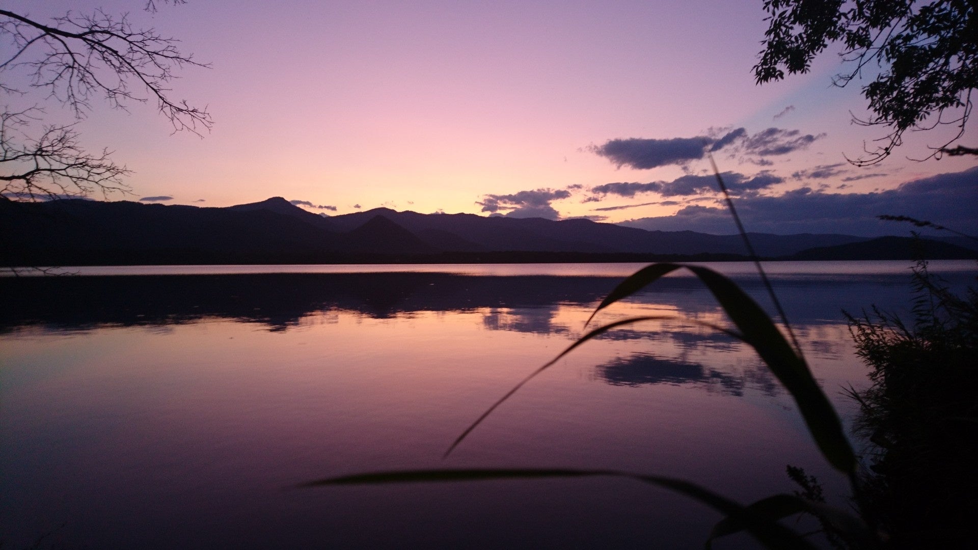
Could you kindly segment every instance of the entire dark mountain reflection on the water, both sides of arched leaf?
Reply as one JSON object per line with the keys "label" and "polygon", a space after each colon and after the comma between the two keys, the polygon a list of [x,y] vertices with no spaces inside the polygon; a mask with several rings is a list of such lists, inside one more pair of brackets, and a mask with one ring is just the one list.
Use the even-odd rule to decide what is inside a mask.
{"label": "entire dark mountain reflection on the water, both sides of arched leaf", "polygon": [[[618,277],[469,276],[449,273],[279,273],[3,278],[0,332],[23,326],[88,330],[100,326],[169,325],[222,318],[288,330],[299,320],[331,310],[370,318],[420,311],[489,310],[486,327],[538,334],[563,332],[549,320],[558,304],[593,306]],[[778,294],[796,324],[838,323],[843,308],[858,312],[867,296],[883,309],[906,301],[903,275],[849,275],[845,279],[790,277]],[[767,306],[760,286],[741,281]],[[892,292],[880,293],[881,288]],[[896,298],[896,299],[894,299]],[[656,303],[696,316],[718,311],[696,280],[671,278],[631,301]],[[620,331],[611,338],[641,338]],[[701,344],[701,343],[697,343]]]}

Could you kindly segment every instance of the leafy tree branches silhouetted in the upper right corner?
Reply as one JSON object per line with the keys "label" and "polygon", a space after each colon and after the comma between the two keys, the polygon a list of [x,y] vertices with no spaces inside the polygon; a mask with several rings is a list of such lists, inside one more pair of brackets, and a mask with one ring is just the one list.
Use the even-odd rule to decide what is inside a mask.
{"label": "leafy tree branches silhouetted in the upper right corner", "polygon": [[[872,82],[863,87],[871,115],[854,116],[867,126],[890,132],[857,165],[887,158],[903,143],[904,132],[956,125],[956,135],[929,157],[978,155],[978,149],[950,149],[964,133],[971,115],[971,93],[978,82],[978,17],[969,0],[765,0],[770,14],[762,41],[764,50],[754,66],[758,83],[780,80],[788,73],[808,72],[812,61],[830,43],[841,42],[844,62],[854,67],[837,74],[845,86],[875,64]],[[947,118],[950,115],[950,118]],[[946,119],[947,118],[947,119]]]}

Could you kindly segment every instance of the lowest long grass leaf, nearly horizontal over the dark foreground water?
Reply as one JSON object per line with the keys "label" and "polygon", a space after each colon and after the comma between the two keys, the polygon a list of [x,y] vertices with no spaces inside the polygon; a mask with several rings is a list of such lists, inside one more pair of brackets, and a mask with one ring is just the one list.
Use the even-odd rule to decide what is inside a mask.
{"label": "lowest long grass leaf, nearly horizontal over the dark foreground water", "polygon": [[[529,480],[543,478],[584,478],[594,476],[610,476],[643,481],[697,500],[718,512],[723,513],[732,525],[746,530],[772,549],[806,550],[815,547],[800,534],[778,524],[765,516],[763,510],[741,506],[732,500],[713,491],[700,487],[689,481],[665,478],[662,476],[646,476],[611,470],[565,470],[565,469],[470,469],[470,470],[412,470],[400,472],[376,472],[371,474],[356,474],[324,480],[308,481],[297,485],[299,488],[324,485],[348,484],[382,484],[410,483],[433,481],[486,481],[486,480]],[[779,495],[787,496],[787,495]],[[755,503],[756,504],[756,503]],[[753,505],[752,505],[753,506]],[[723,523],[723,522],[721,522]],[[714,527],[714,531],[716,527]],[[731,531],[731,532],[736,532]],[[717,535],[719,536],[719,535]],[[711,538],[713,536],[711,535]]]}

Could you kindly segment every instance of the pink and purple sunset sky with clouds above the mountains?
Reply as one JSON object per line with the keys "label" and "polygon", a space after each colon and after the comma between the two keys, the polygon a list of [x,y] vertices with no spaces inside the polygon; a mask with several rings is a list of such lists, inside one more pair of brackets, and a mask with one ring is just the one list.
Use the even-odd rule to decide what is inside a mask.
{"label": "pink and purple sunset sky with clouds above the mountains", "polygon": [[[755,83],[760,1],[143,5],[3,2],[42,20],[128,12],[209,64],[172,82],[172,97],[213,115],[202,138],[173,134],[152,103],[93,102],[85,147],[133,170],[131,194],[110,200],[277,196],[328,215],[386,206],[731,234],[709,152],[748,231],[906,234],[873,218],[902,214],[978,234],[978,161],[914,160],[943,134],[847,162],[886,132],[852,123],[868,80],[832,86],[837,49],[807,74]],[[961,143],[976,138],[972,125]]]}

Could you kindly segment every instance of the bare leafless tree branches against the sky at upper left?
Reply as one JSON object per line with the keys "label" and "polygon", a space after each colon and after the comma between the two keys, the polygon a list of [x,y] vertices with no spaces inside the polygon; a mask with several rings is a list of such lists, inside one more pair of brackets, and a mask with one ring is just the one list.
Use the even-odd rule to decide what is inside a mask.
{"label": "bare leafless tree branches against the sky at upper left", "polygon": [[[160,0],[183,4],[184,0]],[[156,11],[149,0],[145,9]],[[40,92],[61,104],[75,123],[45,124],[46,111],[4,107],[0,113],[0,182],[8,200],[35,201],[127,192],[122,177],[130,170],[111,160],[111,152],[87,153],[75,124],[102,99],[128,111],[133,103],[155,102],[174,132],[202,137],[213,119],[206,108],[172,97],[169,83],[188,66],[209,67],[178,49],[178,40],[153,28],[137,28],[126,14],[68,12],[44,23],[0,9],[0,41],[11,53],[0,58],[0,92],[25,96]],[[13,78],[11,78],[13,76]]]}

